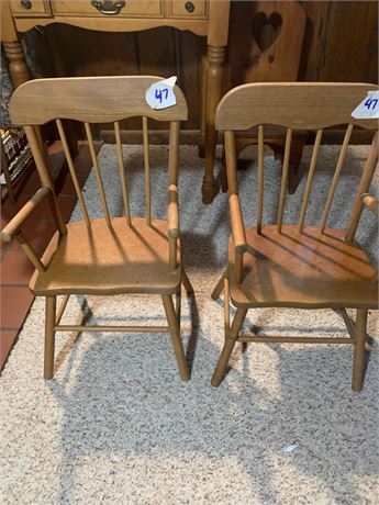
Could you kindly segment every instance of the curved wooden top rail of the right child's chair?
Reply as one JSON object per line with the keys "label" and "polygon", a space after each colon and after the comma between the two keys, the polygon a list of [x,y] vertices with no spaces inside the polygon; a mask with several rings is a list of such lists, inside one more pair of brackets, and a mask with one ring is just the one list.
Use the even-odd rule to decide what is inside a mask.
{"label": "curved wooden top rail of the right child's chair", "polygon": [[272,124],[293,130],[321,130],[353,124],[377,130],[378,120],[356,120],[352,112],[372,83],[265,82],[238,86],[219,103],[215,126],[220,131],[248,130]]}

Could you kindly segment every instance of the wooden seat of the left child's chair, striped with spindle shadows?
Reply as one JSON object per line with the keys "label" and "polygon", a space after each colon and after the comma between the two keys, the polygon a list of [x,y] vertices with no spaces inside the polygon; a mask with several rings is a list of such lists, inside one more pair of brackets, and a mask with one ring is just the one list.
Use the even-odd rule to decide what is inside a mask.
{"label": "wooden seat of the left child's chair, striped with spindle shadows", "polygon": [[[66,293],[122,294],[176,293],[180,268],[168,261],[167,222],[113,217],[112,227],[104,218],[67,224],[67,234],[56,233],[43,262],[46,272],[34,272],[30,289],[36,295]],[[179,265],[179,251],[178,251]]]}

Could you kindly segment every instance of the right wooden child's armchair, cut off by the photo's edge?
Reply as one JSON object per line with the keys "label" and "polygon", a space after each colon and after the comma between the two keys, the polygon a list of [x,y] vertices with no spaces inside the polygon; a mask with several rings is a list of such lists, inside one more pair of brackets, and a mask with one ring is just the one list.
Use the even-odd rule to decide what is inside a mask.
{"label": "right wooden child's armchair, cut off by the photo's edge", "polygon": [[[363,388],[365,336],[368,308],[378,306],[378,271],[355,240],[363,205],[378,214],[378,202],[366,194],[378,160],[378,122],[355,120],[352,111],[376,85],[349,83],[263,83],[244,85],[230,91],[216,111],[216,128],[224,132],[232,237],[228,267],[215,287],[216,299],[225,294],[225,344],[212,385],[219,385],[236,341],[352,344],[354,346],[353,390]],[[276,224],[263,223],[265,126],[287,128],[283,171]],[[305,224],[305,215],[323,128],[347,125],[344,142],[321,223]],[[238,198],[235,132],[258,127],[257,226],[245,228]],[[376,130],[356,191],[346,229],[327,228],[336,186],[344,166],[353,128]],[[315,143],[298,223],[285,224],[286,183],[293,130],[315,130]],[[348,199],[350,194],[346,194]],[[292,197],[293,200],[293,197]],[[230,325],[230,300],[236,314]],[[349,337],[269,337],[239,335],[248,308],[299,307],[339,310]],[[356,323],[346,308],[356,308]]]}

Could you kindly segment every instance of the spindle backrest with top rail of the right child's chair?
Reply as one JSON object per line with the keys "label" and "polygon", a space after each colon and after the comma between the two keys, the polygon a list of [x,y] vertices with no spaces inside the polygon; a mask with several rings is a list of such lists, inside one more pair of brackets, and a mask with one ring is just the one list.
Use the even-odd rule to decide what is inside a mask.
{"label": "spindle backrest with top rail of the right child's chair", "polygon": [[[299,232],[302,232],[323,131],[332,126],[347,125],[320,223],[320,229],[323,233],[327,224],[336,186],[344,166],[354,127],[378,130],[377,120],[356,120],[352,117],[354,109],[366,98],[367,92],[372,90],[378,90],[378,86],[370,83],[252,83],[234,88],[224,96],[218,106],[215,125],[219,131],[224,132],[230,194],[238,194],[234,132],[248,130],[255,126],[258,127],[258,233],[261,233],[264,210],[264,125],[277,125],[287,128],[277,214],[277,226],[279,232],[281,232],[283,218],[293,131],[316,132],[299,215]],[[354,239],[363,209],[360,195],[369,188],[377,160],[378,132],[374,135],[369,156],[363,170],[359,187],[357,188],[357,194],[345,237],[349,242]]]}

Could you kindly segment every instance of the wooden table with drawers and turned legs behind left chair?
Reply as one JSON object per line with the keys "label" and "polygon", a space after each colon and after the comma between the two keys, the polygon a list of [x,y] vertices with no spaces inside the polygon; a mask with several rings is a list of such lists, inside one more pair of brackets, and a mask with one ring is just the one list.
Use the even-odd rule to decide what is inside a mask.
{"label": "wooden table with drawers and turned legs behind left chair", "polygon": [[214,114],[223,89],[230,0],[2,0],[0,8],[1,41],[14,87],[31,78],[19,34],[34,26],[66,23],[103,32],[174,26],[207,37],[200,142],[205,153],[202,197],[204,203],[212,202],[218,193],[213,177]]}

